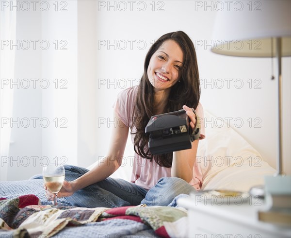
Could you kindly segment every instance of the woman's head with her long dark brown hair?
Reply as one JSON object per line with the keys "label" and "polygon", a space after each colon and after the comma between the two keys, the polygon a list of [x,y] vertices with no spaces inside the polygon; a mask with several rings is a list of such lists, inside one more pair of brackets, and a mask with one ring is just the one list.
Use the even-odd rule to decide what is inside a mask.
{"label": "woman's head with her long dark brown hair", "polygon": [[[135,113],[139,117],[132,116],[131,130],[136,127],[135,152],[152,159],[145,134],[147,118],[178,111],[183,105],[200,108],[199,73],[193,42],[181,31],[162,35],[149,49],[144,68],[135,105]],[[155,156],[154,160],[160,166],[169,168],[172,166],[172,157],[172,153],[161,154]]]}

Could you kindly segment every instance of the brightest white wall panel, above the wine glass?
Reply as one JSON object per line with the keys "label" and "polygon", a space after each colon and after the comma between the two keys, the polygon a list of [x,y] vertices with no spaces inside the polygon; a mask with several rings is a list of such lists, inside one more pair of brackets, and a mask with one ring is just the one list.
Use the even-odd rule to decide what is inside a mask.
{"label": "brightest white wall panel, above the wine glass", "polygon": [[51,85],[42,91],[42,116],[52,124],[42,129],[42,156],[77,164],[78,13],[77,1],[65,2],[59,2],[58,11],[51,2],[52,10],[41,16],[41,36],[52,42],[42,51],[42,78]]}

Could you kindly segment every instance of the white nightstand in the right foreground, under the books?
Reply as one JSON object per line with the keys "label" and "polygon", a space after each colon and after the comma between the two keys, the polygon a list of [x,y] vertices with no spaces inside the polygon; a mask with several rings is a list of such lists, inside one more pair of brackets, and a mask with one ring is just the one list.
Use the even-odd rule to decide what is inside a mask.
{"label": "white nightstand in the right foreground, under the books", "polygon": [[248,197],[236,203],[203,200],[202,196],[181,198],[188,209],[188,237],[191,238],[290,238],[291,228],[258,220],[263,201]]}

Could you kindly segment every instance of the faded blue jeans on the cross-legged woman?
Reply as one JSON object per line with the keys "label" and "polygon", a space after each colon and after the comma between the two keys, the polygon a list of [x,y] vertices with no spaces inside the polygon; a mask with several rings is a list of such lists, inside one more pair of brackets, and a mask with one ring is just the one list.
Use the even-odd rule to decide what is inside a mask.
{"label": "faded blue jeans on the cross-legged woman", "polygon": [[[65,180],[72,181],[89,170],[65,165]],[[149,190],[123,179],[106,178],[76,191],[66,199],[79,207],[119,207],[146,204],[166,206],[181,193],[189,194],[195,188],[180,178],[161,178]]]}

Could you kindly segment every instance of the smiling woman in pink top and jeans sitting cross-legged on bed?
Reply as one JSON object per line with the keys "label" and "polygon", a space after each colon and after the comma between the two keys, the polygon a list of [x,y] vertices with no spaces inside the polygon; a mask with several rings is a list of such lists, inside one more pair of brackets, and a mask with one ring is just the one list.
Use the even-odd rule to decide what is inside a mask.
{"label": "smiling woman in pink top and jeans sitting cross-legged on bed", "polygon": [[[192,149],[153,156],[145,134],[151,116],[181,108],[195,128],[197,121],[191,108],[203,118],[199,99],[193,42],[181,31],[162,35],[146,55],[140,84],[123,90],[114,103],[114,117],[120,123],[113,129],[106,161],[90,171],[65,166],[66,181],[59,197],[68,197],[72,205],[82,207],[168,205],[178,194],[199,189],[199,171],[194,166],[198,140],[192,142]],[[129,128],[135,151],[131,182],[109,177],[122,164]],[[204,135],[202,124],[200,139]],[[45,189],[52,200],[54,195]]]}

